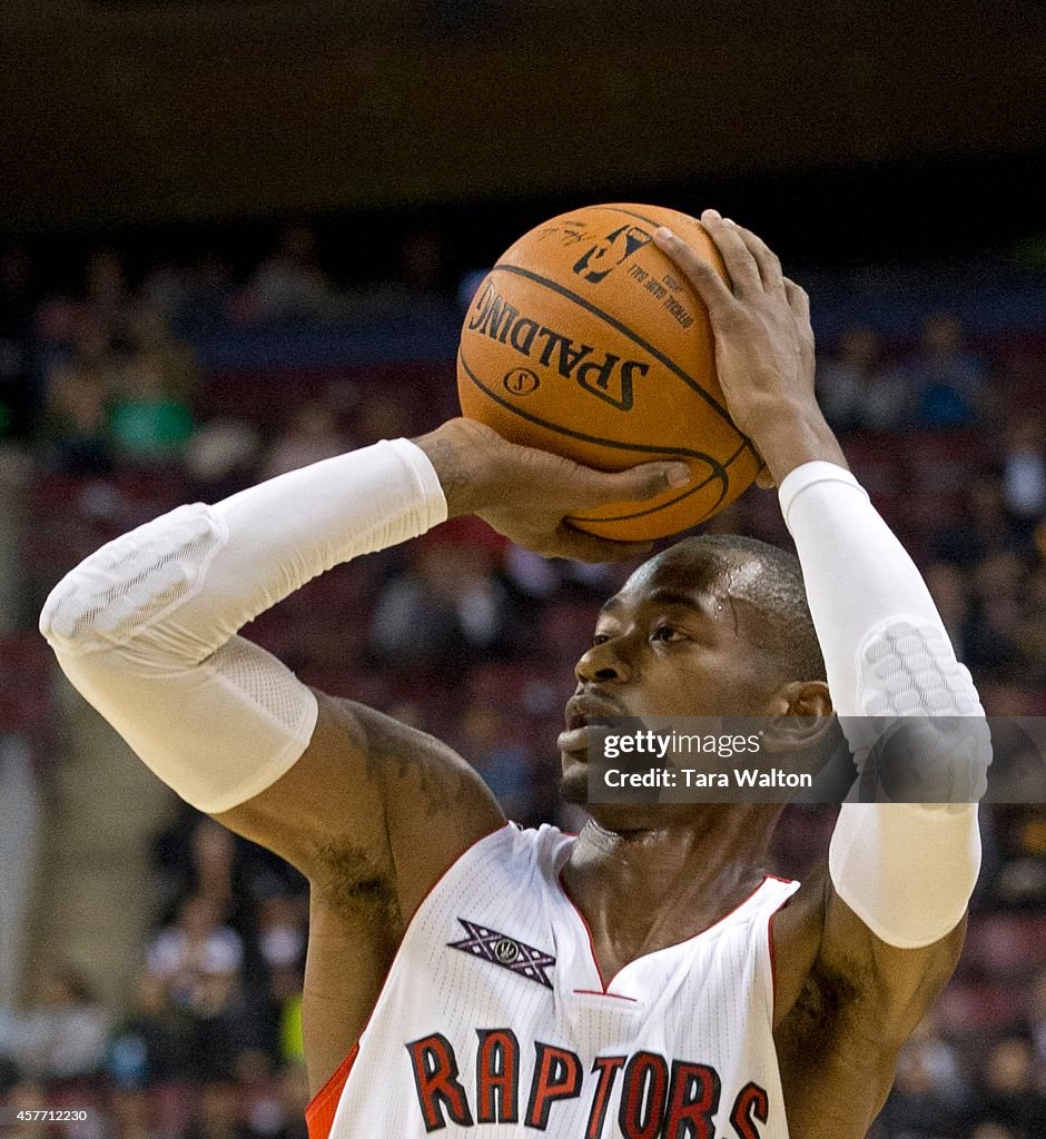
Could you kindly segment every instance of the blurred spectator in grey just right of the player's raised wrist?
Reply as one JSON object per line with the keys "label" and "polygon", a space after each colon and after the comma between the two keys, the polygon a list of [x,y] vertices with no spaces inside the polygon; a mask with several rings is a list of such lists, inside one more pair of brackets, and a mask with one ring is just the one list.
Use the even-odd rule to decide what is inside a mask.
{"label": "blurred spectator in grey just right of the player's raised wrist", "polygon": [[817,399],[840,431],[892,431],[909,413],[910,391],[905,377],[886,367],[879,333],[859,325],[842,334],[834,359],[818,358]]}

